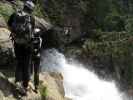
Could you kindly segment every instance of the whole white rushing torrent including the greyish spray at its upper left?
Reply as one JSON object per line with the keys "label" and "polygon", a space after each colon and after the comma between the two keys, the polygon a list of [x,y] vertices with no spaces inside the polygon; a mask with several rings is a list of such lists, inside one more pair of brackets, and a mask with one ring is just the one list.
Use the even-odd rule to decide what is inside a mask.
{"label": "whole white rushing torrent including the greyish spray at its upper left", "polygon": [[46,51],[44,55],[41,65],[45,67],[42,70],[61,72],[66,96],[72,100],[122,100],[113,81],[100,80],[82,65],[68,64],[65,57],[55,50]]}

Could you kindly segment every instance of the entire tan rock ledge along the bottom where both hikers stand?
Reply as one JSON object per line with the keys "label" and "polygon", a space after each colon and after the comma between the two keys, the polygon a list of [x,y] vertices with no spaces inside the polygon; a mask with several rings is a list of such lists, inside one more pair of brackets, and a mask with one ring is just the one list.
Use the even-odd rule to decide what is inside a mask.
{"label": "entire tan rock ledge along the bottom where both hikers stand", "polygon": [[25,97],[21,97],[15,91],[16,86],[13,80],[13,78],[7,78],[0,72],[0,100],[18,100],[18,97],[22,100],[65,100],[63,78],[60,73],[44,72],[40,74],[39,93],[33,92],[33,84],[30,84],[31,89]]}

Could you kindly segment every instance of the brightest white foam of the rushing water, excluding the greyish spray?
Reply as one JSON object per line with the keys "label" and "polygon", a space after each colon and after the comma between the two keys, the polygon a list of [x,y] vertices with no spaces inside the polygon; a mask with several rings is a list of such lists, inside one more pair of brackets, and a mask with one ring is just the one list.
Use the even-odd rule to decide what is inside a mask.
{"label": "brightest white foam of the rushing water, excluding the greyish spray", "polygon": [[83,67],[64,64],[63,75],[66,96],[73,100],[122,100],[113,81],[100,80]]}

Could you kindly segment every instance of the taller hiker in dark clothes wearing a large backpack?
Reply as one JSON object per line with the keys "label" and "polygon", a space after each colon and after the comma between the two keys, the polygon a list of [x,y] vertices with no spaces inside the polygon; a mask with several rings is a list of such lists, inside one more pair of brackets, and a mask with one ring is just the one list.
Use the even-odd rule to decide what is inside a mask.
{"label": "taller hiker in dark clothes wearing a large backpack", "polygon": [[15,83],[17,85],[22,82],[23,95],[27,94],[31,75],[32,31],[35,27],[35,19],[32,17],[33,9],[34,3],[26,1],[23,10],[13,13],[8,20],[8,26],[11,30],[10,37],[17,60]]}

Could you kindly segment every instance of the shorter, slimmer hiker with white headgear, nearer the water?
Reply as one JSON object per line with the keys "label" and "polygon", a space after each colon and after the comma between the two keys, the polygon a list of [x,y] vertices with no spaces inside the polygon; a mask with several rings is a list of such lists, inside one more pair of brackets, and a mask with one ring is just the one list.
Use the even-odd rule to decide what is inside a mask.
{"label": "shorter, slimmer hiker with white headgear, nearer the water", "polygon": [[35,28],[33,38],[32,38],[32,67],[34,70],[34,86],[35,92],[38,91],[39,86],[39,69],[40,69],[40,52],[41,52],[41,45],[42,45],[42,38],[41,38],[41,30],[39,28]]}

